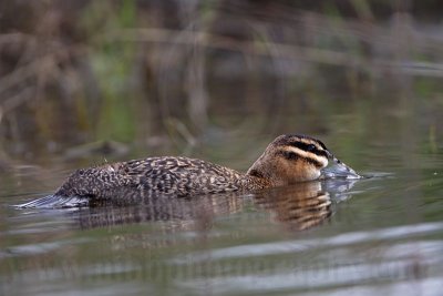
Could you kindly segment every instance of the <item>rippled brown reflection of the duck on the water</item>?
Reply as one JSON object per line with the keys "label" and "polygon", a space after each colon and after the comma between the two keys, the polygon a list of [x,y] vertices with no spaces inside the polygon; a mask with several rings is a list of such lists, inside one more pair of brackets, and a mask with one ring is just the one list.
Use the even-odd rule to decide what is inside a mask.
{"label": "rippled brown reflection of the duck on the water", "polygon": [[322,185],[319,181],[305,182],[265,190],[248,197],[228,193],[199,198],[145,198],[133,206],[89,207],[73,215],[81,228],[164,221],[169,222],[162,224],[166,229],[176,232],[210,227],[215,217],[244,211],[248,212],[248,223],[256,224],[265,212],[285,228],[302,231],[320,225],[332,213],[331,194]]}

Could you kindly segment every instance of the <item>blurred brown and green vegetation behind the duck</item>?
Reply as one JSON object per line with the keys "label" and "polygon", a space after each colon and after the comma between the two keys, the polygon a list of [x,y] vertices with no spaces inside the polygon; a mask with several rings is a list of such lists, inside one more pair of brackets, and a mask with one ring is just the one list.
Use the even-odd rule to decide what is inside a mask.
{"label": "blurred brown and green vegetation behind the duck", "polygon": [[442,8],[1,1],[0,167],[91,153],[209,154],[246,167],[280,133],[354,159],[368,143],[435,152]]}

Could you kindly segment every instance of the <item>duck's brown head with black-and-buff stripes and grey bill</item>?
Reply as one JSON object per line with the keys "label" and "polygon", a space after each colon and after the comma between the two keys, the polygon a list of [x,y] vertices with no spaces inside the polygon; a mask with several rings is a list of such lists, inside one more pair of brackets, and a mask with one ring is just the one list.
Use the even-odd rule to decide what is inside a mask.
{"label": "duck's brown head with black-and-buff stripes and grey bill", "polygon": [[[330,162],[334,164],[334,176],[359,177],[352,169],[336,159],[321,141],[306,135],[280,135],[268,145],[247,174],[265,178],[272,186],[281,186],[317,180]],[[331,176],[330,171],[328,174]]]}

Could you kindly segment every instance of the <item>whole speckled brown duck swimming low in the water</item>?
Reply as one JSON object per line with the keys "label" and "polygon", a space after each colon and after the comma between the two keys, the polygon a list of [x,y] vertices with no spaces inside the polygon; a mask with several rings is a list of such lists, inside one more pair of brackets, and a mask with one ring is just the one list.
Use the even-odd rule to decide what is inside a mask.
{"label": "whole speckled brown duck swimming low in the water", "polygon": [[[319,140],[305,135],[280,135],[246,174],[187,157],[150,157],[75,171],[54,195],[23,206],[66,206],[111,201],[123,196],[194,196],[235,191],[256,191],[317,180],[332,161],[347,177],[359,177],[337,160]],[[131,194],[121,194],[121,192]],[[120,200],[120,201],[117,201]]]}

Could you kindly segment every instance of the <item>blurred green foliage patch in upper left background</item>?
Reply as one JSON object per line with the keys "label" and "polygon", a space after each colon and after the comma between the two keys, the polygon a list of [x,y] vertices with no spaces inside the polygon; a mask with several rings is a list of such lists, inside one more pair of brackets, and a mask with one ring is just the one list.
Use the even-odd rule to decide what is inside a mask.
{"label": "blurred green foliage patch in upper left background", "polygon": [[85,11],[83,25],[93,44],[90,59],[103,98],[96,136],[130,142],[136,130],[134,98],[128,95],[135,44],[119,42],[115,37],[122,29],[135,25],[135,1],[122,1],[117,7],[109,1],[92,1]]}

